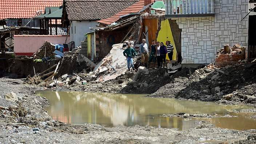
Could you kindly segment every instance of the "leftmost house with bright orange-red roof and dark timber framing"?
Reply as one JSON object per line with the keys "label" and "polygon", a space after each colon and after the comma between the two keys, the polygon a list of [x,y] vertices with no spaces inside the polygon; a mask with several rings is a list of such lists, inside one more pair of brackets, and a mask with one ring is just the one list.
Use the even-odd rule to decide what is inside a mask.
{"label": "leftmost house with bright orange-red roof and dark timber framing", "polygon": [[33,20],[33,17],[44,13],[45,7],[57,7],[62,5],[62,3],[63,0],[1,0],[1,51],[7,51],[8,48],[9,50],[13,50],[13,35],[39,34],[40,22],[39,20]]}

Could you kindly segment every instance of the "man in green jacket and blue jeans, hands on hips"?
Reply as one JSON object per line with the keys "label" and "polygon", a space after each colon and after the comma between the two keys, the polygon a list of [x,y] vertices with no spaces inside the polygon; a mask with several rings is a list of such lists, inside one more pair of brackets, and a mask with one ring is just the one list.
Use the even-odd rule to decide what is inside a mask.
{"label": "man in green jacket and blue jeans, hands on hips", "polygon": [[126,57],[127,60],[127,67],[128,71],[130,71],[130,64],[132,67],[132,71],[135,71],[134,65],[133,65],[133,57],[136,56],[135,50],[131,47],[130,43],[127,44],[128,48],[124,50],[123,54]]}

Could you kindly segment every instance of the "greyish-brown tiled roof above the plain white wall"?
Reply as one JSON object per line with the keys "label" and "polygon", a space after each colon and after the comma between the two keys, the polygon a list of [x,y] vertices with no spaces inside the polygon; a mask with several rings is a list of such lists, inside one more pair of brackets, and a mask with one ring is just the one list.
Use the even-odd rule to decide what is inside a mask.
{"label": "greyish-brown tiled roof above the plain white wall", "polygon": [[139,0],[66,0],[69,20],[106,19]]}

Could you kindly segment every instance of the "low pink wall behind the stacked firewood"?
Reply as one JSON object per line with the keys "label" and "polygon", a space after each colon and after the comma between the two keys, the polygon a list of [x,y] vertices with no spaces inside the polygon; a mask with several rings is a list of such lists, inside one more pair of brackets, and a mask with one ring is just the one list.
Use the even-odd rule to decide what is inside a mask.
{"label": "low pink wall behind the stacked firewood", "polygon": [[[31,56],[43,44],[48,41],[52,44],[64,44],[66,35],[14,35],[14,53],[15,55]],[[67,43],[69,43],[69,36]]]}

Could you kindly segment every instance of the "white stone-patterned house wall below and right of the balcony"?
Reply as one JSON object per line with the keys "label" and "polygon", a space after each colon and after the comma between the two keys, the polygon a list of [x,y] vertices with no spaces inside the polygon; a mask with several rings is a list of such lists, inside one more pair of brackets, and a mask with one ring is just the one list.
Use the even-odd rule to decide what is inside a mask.
{"label": "white stone-patterned house wall below and right of the balcony", "polygon": [[172,18],[182,29],[182,63],[213,63],[224,44],[247,47],[247,13],[248,0],[215,0],[215,17]]}

